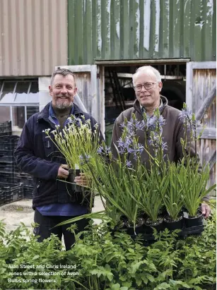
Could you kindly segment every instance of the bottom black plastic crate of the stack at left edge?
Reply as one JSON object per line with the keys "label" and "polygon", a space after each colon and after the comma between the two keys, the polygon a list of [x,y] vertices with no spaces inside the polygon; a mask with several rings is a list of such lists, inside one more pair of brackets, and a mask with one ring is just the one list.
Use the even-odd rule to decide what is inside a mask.
{"label": "bottom black plastic crate of the stack at left edge", "polygon": [[23,183],[19,183],[18,185],[0,183],[0,196],[3,201],[1,204],[21,200],[23,198]]}

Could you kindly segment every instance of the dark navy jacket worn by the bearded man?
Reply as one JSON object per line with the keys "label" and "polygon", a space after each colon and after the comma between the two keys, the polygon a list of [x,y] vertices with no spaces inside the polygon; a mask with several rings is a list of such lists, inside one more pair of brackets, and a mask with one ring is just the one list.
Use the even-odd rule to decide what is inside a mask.
{"label": "dark navy jacket worn by the bearded man", "polygon": [[[85,120],[95,130],[95,119],[74,104],[74,116]],[[83,120],[83,119],[82,119]],[[78,203],[72,192],[62,181],[57,180],[58,169],[66,160],[54,143],[47,138],[45,129],[55,129],[49,120],[49,104],[40,113],[30,116],[25,123],[14,157],[18,168],[33,176],[33,209],[50,203]],[[99,131],[100,140],[103,140]],[[81,146],[81,144],[78,144]]]}

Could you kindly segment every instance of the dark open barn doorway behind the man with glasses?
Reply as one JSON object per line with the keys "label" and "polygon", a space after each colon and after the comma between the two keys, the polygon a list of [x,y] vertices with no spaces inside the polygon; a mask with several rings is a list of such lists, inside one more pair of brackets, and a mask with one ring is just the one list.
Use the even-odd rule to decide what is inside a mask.
{"label": "dark open barn doorway behind the man with glasses", "polygon": [[[119,114],[132,107],[135,97],[132,75],[139,66],[150,64],[105,66],[105,139],[110,144],[112,128]],[[163,89],[161,95],[168,104],[182,109],[186,100],[186,64],[151,64],[160,71]]]}

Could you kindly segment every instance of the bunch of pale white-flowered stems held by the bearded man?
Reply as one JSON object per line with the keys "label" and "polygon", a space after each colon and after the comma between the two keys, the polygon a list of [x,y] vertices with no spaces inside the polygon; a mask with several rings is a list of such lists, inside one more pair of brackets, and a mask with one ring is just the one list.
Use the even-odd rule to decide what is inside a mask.
{"label": "bunch of pale white-flowered stems held by the bearded man", "polygon": [[[90,156],[95,154],[99,145],[99,131],[98,123],[95,124],[95,129],[92,130],[90,126],[90,119],[85,120],[83,116],[77,118],[74,115],[69,117],[69,123],[62,130],[59,126],[56,126],[56,130],[45,130],[47,138],[52,140],[54,145],[58,148],[61,154],[66,159],[66,163],[69,165],[69,178],[65,182],[71,186],[71,190],[74,191],[72,200],[76,199],[83,203],[84,200],[90,200],[90,209],[93,206],[93,192],[87,191],[89,188],[83,186],[77,186],[74,183],[75,176],[79,176],[81,171],[81,156]],[[83,163],[83,167],[86,165]]]}

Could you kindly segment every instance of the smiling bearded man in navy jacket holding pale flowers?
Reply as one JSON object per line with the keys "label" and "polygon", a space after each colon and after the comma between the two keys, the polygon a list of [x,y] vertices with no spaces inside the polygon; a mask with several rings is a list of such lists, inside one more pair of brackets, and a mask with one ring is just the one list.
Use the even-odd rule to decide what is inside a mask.
{"label": "smiling bearded man in navy jacket holding pale flowers", "polygon": [[[89,208],[88,203],[81,203],[81,200],[75,198],[69,186],[66,186],[67,183],[59,181],[68,178],[69,166],[54,143],[46,138],[45,130],[54,130],[57,125],[62,130],[69,123],[71,115],[80,119],[84,116],[83,121],[90,119],[91,128],[95,130],[95,119],[74,104],[76,92],[74,73],[65,68],[54,71],[49,85],[52,102],[39,113],[30,116],[14,152],[18,168],[33,176],[34,221],[39,224],[34,233],[40,236],[38,241],[43,241],[51,234],[56,234],[61,240],[63,235],[66,250],[75,241],[74,234],[67,230],[71,224],[53,227],[67,219],[88,213]],[[100,131],[99,136],[102,139]],[[85,185],[86,178],[83,175],[77,176],[74,182]],[[87,224],[88,220],[81,219],[76,222],[77,230],[83,231]]]}

